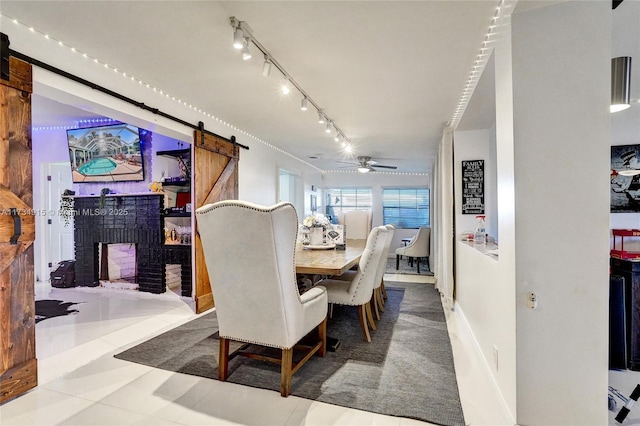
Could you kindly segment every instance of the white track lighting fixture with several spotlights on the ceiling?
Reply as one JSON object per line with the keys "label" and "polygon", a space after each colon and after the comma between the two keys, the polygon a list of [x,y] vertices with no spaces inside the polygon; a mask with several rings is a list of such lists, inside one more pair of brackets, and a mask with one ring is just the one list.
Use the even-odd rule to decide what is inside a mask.
{"label": "white track lighting fixture with several spotlights on the ceiling", "polygon": [[316,102],[305,92],[302,87],[296,81],[291,78],[291,76],[287,73],[287,71],[278,63],[278,61],[267,51],[267,49],[260,43],[253,35],[253,31],[249,27],[249,25],[245,21],[238,20],[235,16],[231,16],[229,18],[231,27],[233,28],[233,47],[236,49],[242,49],[242,59],[245,61],[251,59],[251,52],[249,51],[249,44],[252,43],[263,55],[264,55],[264,63],[262,65],[262,75],[265,77],[269,77],[271,74],[271,68],[275,67],[278,71],[282,73],[284,77],[284,83],[282,84],[281,90],[282,93],[287,95],[291,92],[292,87],[298,90],[302,95],[302,99],[300,100],[300,110],[307,111],[309,109],[309,104],[311,104],[318,111],[318,123],[326,124],[325,132],[331,133],[335,130],[336,134],[334,140],[336,142],[342,142],[343,148],[345,151],[351,151],[351,145],[346,143],[347,139],[344,136],[344,133],[340,128],[329,119],[324,113],[324,111],[318,106]]}

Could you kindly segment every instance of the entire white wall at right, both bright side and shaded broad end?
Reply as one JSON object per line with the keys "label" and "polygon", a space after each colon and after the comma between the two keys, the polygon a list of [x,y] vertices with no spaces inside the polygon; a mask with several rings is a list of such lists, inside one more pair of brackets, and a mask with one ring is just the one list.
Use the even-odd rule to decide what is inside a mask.
{"label": "entire white wall at right, both bright side and shaded broad end", "polygon": [[493,45],[500,257],[458,243],[456,297],[517,424],[607,424],[610,17],[529,9]]}

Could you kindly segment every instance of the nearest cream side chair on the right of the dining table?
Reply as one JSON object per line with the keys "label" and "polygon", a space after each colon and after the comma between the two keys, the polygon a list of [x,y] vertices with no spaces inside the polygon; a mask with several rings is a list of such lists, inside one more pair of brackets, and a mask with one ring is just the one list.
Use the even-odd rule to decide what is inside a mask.
{"label": "nearest cream side chair on the right of the dining table", "polygon": [[386,234],[387,228],[384,226],[377,226],[371,230],[360,257],[358,270],[351,280],[326,279],[320,282],[320,285],[327,289],[329,303],[358,307],[360,327],[367,342],[371,342],[369,325],[373,330],[376,329],[370,301],[376,285],[378,264],[384,251]]}

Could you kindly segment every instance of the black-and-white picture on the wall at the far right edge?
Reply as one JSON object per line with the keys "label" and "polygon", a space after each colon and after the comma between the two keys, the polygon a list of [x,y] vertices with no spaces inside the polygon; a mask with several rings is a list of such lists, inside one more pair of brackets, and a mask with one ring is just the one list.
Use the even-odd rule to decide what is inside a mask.
{"label": "black-and-white picture on the wall at the far right edge", "polygon": [[611,213],[640,212],[640,145],[611,147]]}

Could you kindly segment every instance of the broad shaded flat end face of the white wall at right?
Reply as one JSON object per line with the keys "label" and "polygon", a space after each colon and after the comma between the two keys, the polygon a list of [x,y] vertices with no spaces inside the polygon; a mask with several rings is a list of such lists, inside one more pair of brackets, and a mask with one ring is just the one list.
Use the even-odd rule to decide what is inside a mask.
{"label": "broad shaded flat end face of the white wall at right", "polygon": [[607,424],[611,3],[516,13],[512,50],[517,420]]}

